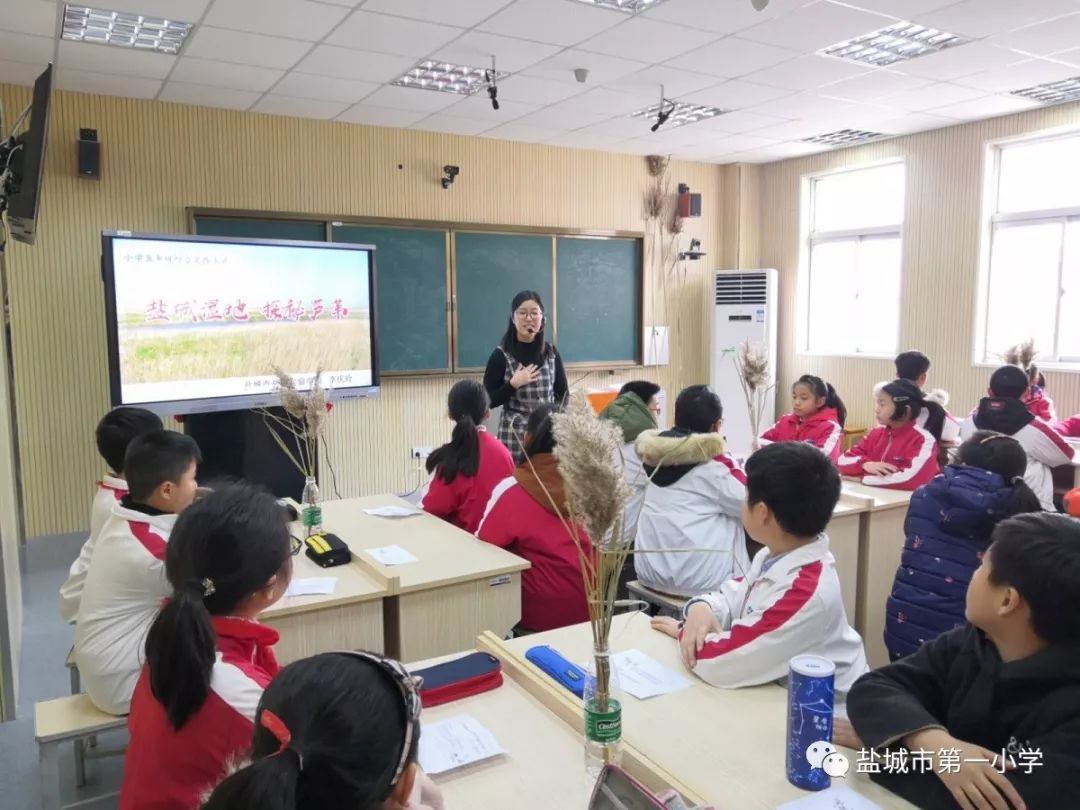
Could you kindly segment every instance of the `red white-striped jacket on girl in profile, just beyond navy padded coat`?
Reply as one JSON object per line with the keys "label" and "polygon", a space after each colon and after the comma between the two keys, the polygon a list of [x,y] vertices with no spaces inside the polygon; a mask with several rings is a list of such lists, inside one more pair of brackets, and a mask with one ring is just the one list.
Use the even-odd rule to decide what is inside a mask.
{"label": "red white-striped jacket on girl in profile, just beyond navy padded coat", "polygon": [[[863,465],[886,461],[900,468],[889,475],[868,475]],[[854,447],[840,456],[837,464],[843,475],[862,476],[867,486],[889,489],[918,489],[941,472],[937,464],[937,442],[917,421],[900,428],[879,424]]]}

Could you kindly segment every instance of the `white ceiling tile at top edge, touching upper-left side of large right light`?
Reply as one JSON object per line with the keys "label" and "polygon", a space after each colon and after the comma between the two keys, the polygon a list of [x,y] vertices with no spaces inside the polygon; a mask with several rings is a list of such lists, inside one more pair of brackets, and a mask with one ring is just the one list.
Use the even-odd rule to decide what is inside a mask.
{"label": "white ceiling tile at top edge, touching upper-left side of large right light", "polygon": [[831,0],[818,0],[789,14],[747,28],[739,36],[754,42],[806,52],[885,28],[894,22],[893,17],[860,11]]}

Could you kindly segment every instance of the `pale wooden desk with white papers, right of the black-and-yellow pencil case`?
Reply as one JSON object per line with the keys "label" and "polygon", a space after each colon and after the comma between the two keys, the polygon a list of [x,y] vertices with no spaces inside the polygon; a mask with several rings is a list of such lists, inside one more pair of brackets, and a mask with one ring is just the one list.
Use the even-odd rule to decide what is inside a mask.
{"label": "pale wooden desk with white papers, right of the black-and-yellow pencil case", "polygon": [[[391,495],[323,504],[323,528],[349,545],[354,566],[386,588],[386,653],[420,661],[468,649],[485,630],[509,633],[522,617],[522,571],[529,563],[429,514],[364,512],[389,505],[410,504]],[[364,552],[383,545],[399,545],[417,562],[383,566]]]}

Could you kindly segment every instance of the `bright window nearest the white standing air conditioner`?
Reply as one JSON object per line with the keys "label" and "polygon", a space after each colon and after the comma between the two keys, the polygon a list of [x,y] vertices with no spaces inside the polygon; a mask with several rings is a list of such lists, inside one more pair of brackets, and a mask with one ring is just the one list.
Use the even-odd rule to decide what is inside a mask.
{"label": "bright window nearest the white standing air conditioner", "polygon": [[894,354],[904,164],[812,177],[807,188],[802,348],[811,354]]}

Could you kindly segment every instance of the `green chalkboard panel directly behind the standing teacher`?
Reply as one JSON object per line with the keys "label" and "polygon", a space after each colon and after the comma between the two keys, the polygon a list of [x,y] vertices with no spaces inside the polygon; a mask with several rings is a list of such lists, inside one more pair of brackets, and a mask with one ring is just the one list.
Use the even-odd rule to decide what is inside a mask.
{"label": "green chalkboard panel directly behind the standing teacher", "polygon": [[[535,289],[552,308],[551,237],[455,231],[458,368],[483,368],[510,320],[510,305]],[[545,336],[552,340],[551,325]]]}

